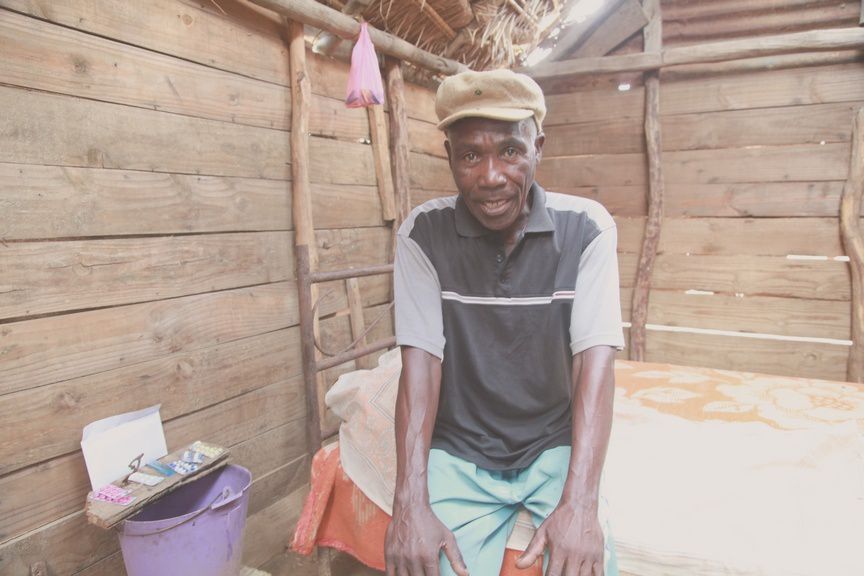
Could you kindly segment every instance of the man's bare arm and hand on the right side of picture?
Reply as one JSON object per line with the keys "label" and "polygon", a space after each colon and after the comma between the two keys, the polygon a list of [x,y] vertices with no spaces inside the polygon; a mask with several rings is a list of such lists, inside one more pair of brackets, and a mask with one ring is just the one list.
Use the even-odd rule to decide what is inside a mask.
{"label": "man's bare arm and hand on the right side of picture", "polygon": [[573,450],[558,506],[537,529],[517,566],[549,548],[547,576],[603,575],[603,532],[597,518],[600,475],[612,430],[615,348],[594,346],[573,356]]}

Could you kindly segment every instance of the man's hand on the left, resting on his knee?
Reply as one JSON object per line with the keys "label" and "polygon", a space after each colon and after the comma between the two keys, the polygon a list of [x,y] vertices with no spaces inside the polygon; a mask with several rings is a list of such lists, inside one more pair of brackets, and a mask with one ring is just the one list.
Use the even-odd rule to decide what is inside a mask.
{"label": "man's hand on the left, resting on his knee", "polygon": [[438,576],[441,549],[459,576],[468,576],[456,538],[429,506],[393,510],[384,539],[387,576]]}

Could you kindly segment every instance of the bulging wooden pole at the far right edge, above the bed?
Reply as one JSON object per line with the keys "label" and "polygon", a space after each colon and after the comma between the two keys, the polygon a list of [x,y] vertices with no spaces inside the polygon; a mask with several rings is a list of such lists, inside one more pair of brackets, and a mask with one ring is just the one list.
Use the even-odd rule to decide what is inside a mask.
{"label": "bulging wooden pole at the far right edge, above the bed", "polygon": [[849,382],[864,382],[864,234],[861,196],[864,194],[864,108],[855,115],[849,176],[840,201],[840,233],[852,273],[852,348],[846,365]]}

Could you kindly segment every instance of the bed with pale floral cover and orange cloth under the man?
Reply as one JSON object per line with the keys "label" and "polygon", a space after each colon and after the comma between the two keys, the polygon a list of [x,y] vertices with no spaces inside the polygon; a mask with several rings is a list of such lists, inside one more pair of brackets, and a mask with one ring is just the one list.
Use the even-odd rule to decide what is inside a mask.
{"label": "bed with pale floral cover and orange cloth under the man", "polygon": [[[367,347],[368,349],[369,347]],[[292,547],[383,570],[395,477],[398,350],[345,374],[326,402]],[[622,575],[864,574],[864,389],[840,382],[617,361],[602,494]],[[521,518],[501,574],[533,532]]]}

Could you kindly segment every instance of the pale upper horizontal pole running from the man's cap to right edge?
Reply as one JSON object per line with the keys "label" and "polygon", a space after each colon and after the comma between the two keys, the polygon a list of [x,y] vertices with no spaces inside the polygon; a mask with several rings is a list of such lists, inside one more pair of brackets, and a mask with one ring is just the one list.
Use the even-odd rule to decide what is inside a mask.
{"label": "pale upper horizontal pole running from the man's cap to right edge", "polygon": [[659,54],[646,52],[626,56],[578,58],[538,64],[531,68],[522,68],[519,72],[528,74],[536,80],[543,80],[585,74],[647,72],[688,64],[727,62],[802,52],[853,50],[862,47],[864,47],[864,30],[838,28],[669,48]]}

